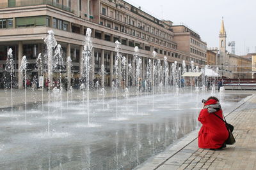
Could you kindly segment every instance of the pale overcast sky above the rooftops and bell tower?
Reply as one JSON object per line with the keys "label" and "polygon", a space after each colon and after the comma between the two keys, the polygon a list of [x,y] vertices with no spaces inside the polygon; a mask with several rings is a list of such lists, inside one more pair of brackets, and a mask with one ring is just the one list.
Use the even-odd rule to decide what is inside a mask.
{"label": "pale overcast sky above the rooftops and bell tower", "polygon": [[[125,0],[156,18],[184,23],[198,32],[207,47],[219,47],[221,17],[227,43],[236,41],[236,54],[244,55],[256,46],[256,0]],[[230,46],[227,46],[231,52]]]}

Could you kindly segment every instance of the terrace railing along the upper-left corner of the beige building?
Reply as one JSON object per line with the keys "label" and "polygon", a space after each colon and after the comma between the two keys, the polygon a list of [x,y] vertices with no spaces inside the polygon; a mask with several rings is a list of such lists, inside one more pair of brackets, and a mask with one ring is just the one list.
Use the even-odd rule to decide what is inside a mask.
{"label": "terrace railing along the upper-left corner of the beige building", "polygon": [[25,1],[19,1],[19,2],[12,1],[9,3],[0,3],[0,8],[15,8],[15,7],[21,7],[21,6],[35,6],[35,5],[41,5],[41,4],[48,4],[56,8],[60,8],[61,10],[74,13],[74,11],[71,11],[70,7],[64,6],[63,4],[54,3],[54,1],[52,0],[25,0]]}

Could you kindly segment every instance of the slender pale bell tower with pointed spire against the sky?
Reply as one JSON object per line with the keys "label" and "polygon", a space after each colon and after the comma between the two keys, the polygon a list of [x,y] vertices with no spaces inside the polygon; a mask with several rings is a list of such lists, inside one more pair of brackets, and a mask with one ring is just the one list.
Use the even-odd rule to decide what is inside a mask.
{"label": "slender pale bell tower with pointed spire against the sky", "polygon": [[227,52],[226,52],[227,34],[225,31],[225,27],[224,27],[223,17],[221,20],[219,39],[220,39],[220,60],[219,60],[218,64],[220,64],[220,65],[223,64],[223,66],[227,66],[228,65],[228,56],[227,56]]}

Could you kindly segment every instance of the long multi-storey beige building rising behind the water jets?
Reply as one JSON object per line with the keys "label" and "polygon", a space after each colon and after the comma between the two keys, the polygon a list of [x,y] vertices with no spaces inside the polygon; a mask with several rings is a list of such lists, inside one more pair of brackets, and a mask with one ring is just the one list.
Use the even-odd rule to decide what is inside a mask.
{"label": "long multi-storey beige building rising behind the water jets", "polygon": [[[8,48],[12,48],[19,88],[22,87],[22,76],[18,70],[22,56],[26,55],[28,77],[33,78],[38,74],[36,57],[38,53],[45,53],[44,38],[49,30],[54,31],[63,49],[64,60],[71,57],[72,73],[77,78],[84,35],[86,29],[91,28],[92,74],[95,79],[99,78],[100,66],[104,64],[106,85],[111,85],[113,80],[116,40],[122,43],[127,64],[134,66],[134,46],[140,48],[142,78],[146,76],[145,69],[153,50],[158,53],[157,59],[163,60],[166,56],[169,66],[175,60],[178,67],[182,60],[186,60],[187,65],[194,60],[200,67],[206,63],[206,43],[198,34],[184,25],[173,26],[170,21],[159,20],[125,1],[2,0],[0,8],[0,77],[4,74]],[[133,79],[126,78],[126,81],[134,84]]]}

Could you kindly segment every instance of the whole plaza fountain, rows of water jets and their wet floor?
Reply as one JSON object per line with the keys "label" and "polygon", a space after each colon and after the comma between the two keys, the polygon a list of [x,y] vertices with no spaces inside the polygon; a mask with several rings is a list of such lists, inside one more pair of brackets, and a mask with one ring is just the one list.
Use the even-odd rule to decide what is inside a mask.
{"label": "whole plaza fountain, rows of water jets and their wet floor", "polygon": [[[209,97],[211,93],[199,92],[199,89],[201,88],[200,85],[202,85],[202,91],[205,88],[203,83],[200,83],[200,80],[197,80],[195,83],[195,90],[198,90],[196,97],[195,95],[188,96],[187,94],[189,93],[184,94],[184,92],[180,91],[182,90],[182,83],[180,83],[181,77],[183,73],[186,73],[185,62],[183,62],[182,67],[179,68],[177,68],[177,62],[174,62],[170,70],[167,57],[164,57],[163,66],[161,66],[161,62],[156,60],[157,53],[152,53],[152,59],[148,59],[148,64],[146,64],[147,78],[143,82],[145,92],[152,90],[152,96],[140,96],[139,85],[143,65],[141,64],[141,59],[138,55],[138,48],[134,48],[134,61],[136,61],[136,64],[127,64],[127,58],[122,57],[121,55],[120,43],[118,41],[116,42],[117,55],[115,59],[116,81],[112,82],[112,92],[116,99],[108,99],[105,96],[106,89],[104,87],[104,75],[106,73],[104,72],[105,67],[102,65],[100,71],[103,83],[102,88],[99,90],[99,81],[95,83],[95,87],[97,87],[97,100],[99,99],[99,95],[102,97],[102,100],[96,101],[95,96],[95,100],[90,101],[90,99],[92,99],[90,97],[94,97],[93,95],[90,96],[90,81],[92,81],[90,74],[90,62],[92,57],[90,31],[91,30],[88,29],[86,32],[86,41],[81,62],[84,68],[81,69],[81,78],[85,81],[83,82],[83,80],[81,80],[80,85],[83,103],[79,100],[70,102],[70,99],[72,100],[72,86],[70,85],[68,91],[70,91],[71,94],[70,96],[67,96],[67,101],[69,101],[67,102],[68,108],[65,107],[62,109],[61,103],[63,102],[61,99],[61,92],[63,88],[60,87],[60,89],[58,89],[58,87],[55,86],[53,90],[51,90],[52,86],[50,85],[50,82],[53,82],[51,80],[52,71],[60,71],[61,81],[61,72],[63,72],[63,69],[61,69],[63,61],[60,57],[62,55],[61,46],[54,43],[56,42],[54,34],[49,31],[49,35],[45,39],[48,48],[46,53],[47,59],[45,60],[47,62],[47,69],[45,67],[45,72],[48,71],[48,94],[51,94],[51,97],[48,97],[47,136],[38,133],[40,132],[40,129],[45,129],[45,124],[47,122],[47,120],[42,117],[44,116],[44,114],[42,114],[44,113],[44,102],[42,102],[42,113],[40,108],[41,101],[39,103],[28,104],[28,108],[26,100],[25,108],[22,106],[14,106],[12,110],[13,114],[24,110],[26,111],[27,117],[27,110],[28,114],[30,111],[35,111],[33,112],[33,115],[31,114],[31,117],[29,117],[29,122],[33,122],[35,125],[27,124],[26,127],[20,127],[20,122],[13,121],[19,120],[19,114],[17,114],[15,119],[9,118],[10,114],[6,114],[6,116],[3,113],[10,112],[10,108],[3,108],[3,111],[0,113],[0,125],[3,130],[1,134],[3,134],[4,139],[4,141],[1,141],[0,143],[1,159],[4,162],[2,169],[33,169],[35,167],[38,167],[39,169],[49,169],[51,167],[54,167],[55,169],[63,169],[63,167],[67,165],[68,167],[72,167],[72,169],[102,169],[102,167],[105,169],[134,169],[136,165],[144,162],[148,157],[152,157],[152,155],[163,151],[164,148],[171,145],[173,142],[176,142],[177,139],[182,138],[198,127],[196,117],[198,117],[198,110],[200,108],[198,109],[197,104],[201,104],[198,100]],[[52,56],[53,52],[54,55]],[[12,59],[11,56],[8,57]],[[26,64],[24,63],[26,63],[25,59],[22,60],[22,66],[26,67]],[[41,66],[40,74],[43,75],[41,55],[38,55],[37,63],[38,68]],[[67,57],[68,79],[71,74],[70,64],[71,59]],[[13,69],[12,64],[8,66],[8,69]],[[26,69],[22,69],[22,71],[25,72]],[[133,71],[134,73],[132,74]],[[194,66],[191,66],[190,71],[198,71],[198,68],[196,67],[196,69],[194,69]],[[131,79],[133,77],[136,79],[136,97],[129,97],[129,94],[132,94],[132,89],[129,88],[129,83],[124,89],[124,94],[120,93],[118,96],[118,83],[120,82],[120,79],[118,78],[127,78],[127,74],[129,74],[128,78]],[[170,81],[171,79],[172,81]],[[172,91],[172,94],[167,94],[167,92],[170,91],[168,89],[170,88],[170,85],[173,85],[174,91]],[[159,91],[157,91],[157,88]],[[214,89],[212,89],[212,91]],[[195,90],[191,91],[191,94],[194,94]],[[111,89],[109,89],[109,91],[111,92]],[[160,92],[161,94],[156,95],[156,92]],[[173,95],[175,95],[175,97],[173,97]],[[77,96],[80,97],[79,95]],[[109,94],[109,96],[111,96],[111,94]],[[221,102],[223,101],[224,103],[223,110],[226,110],[227,108],[232,109],[234,105],[237,104],[235,101],[227,100],[230,97],[230,94],[228,94],[228,97],[225,96],[224,88],[220,89],[220,97]],[[222,97],[227,98],[224,100]],[[42,96],[42,100],[43,99],[44,97]],[[131,99],[131,102],[129,102],[129,99]],[[87,105],[85,104],[85,101]],[[122,112],[118,110],[118,108],[122,107],[123,104],[125,105],[125,102],[126,111],[131,111],[131,113],[137,114],[126,114],[129,121],[118,121],[113,124],[112,120],[124,120],[121,119]],[[10,103],[10,106],[13,107],[13,104]],[[101,106],[102,109],[99,109]],[[18,107],[19,110],[17,110]],[[157,107],[157,109],[154,107]],[[147,115],[138,114],[138,110],[145,111]],[[84,118],[84,115],[86,115],[84,112],[86,111],[88,114],[88,125],[86,122],[87,118]],[[62,113],[63,115],[65,113],[68,114],[65,114],[65,119],[60,119],[51,115],[51,118],[56,118],[56,120],[51,119],[54,122],[51,122],[52,130],[50,131],[50,113],[53,116],[59,114],[62,115]],[[92,117],[92,113],[94,117]],[[113,118],[113,115],[116,115],[115,119],[111,119]],[[99,126],[93,125],[92,122],[97,122],[97,124],[102,125],[102,128],[97,129],[96,127]],[[12,131],[10,131],[8,127],[11,127]],[[19,143],[17,143],[17,141],[19,141]],[[24,149],[13,150],[13,152],[10,153],[9,146]],[[36,157],[35,152],[38,153],[38,156]],[[102,154],[102,152],[109,154]],[[17,157],[12,157],[12,155],[17,155]],[[100,155],[100,157],[94,159],[95,155]],[[63,159],[65,159],[64,162]],[[45,160],[47,162],[46,164]],[[115,161],[114,164],[113,161]]]}

